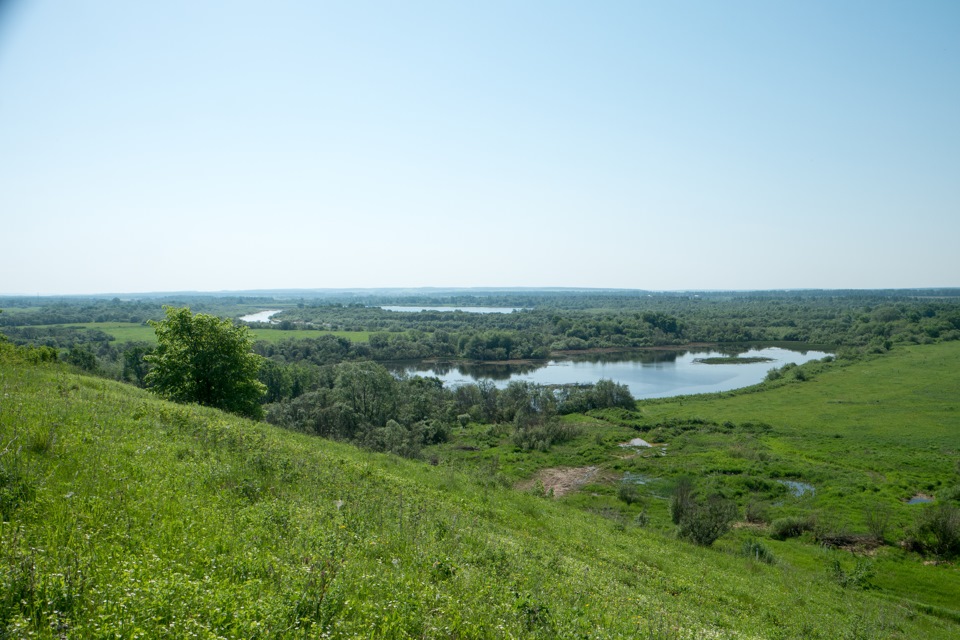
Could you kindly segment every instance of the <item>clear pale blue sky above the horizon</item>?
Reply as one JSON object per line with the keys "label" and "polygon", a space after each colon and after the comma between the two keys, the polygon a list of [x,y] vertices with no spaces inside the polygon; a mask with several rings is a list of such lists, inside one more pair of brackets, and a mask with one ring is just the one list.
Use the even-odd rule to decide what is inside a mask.
{"label": "clear pale blue sky above the horizon", "polygon": [[0,293],[960,286],[960,2],[0,0]]}

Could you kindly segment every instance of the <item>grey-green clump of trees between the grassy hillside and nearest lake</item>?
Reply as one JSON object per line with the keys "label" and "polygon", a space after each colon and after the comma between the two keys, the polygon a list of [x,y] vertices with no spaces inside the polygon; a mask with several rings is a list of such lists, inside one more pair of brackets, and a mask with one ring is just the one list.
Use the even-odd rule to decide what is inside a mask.
{"label": "grey-green clump of trees between the grassy hillside and nearest lake", "polygon": [[515,381],[504,388],[481,381],[451,388],[438,378],[394,376],[371,361],[327,365],[319,374],[312,390],[268,404],[266,420],[406,457],[418,457],[422,447],[471,422],[502,425],[518,448],[545,451],[576,435],[561,415],[636,406],[626,385],[611,380],[559,387]]}

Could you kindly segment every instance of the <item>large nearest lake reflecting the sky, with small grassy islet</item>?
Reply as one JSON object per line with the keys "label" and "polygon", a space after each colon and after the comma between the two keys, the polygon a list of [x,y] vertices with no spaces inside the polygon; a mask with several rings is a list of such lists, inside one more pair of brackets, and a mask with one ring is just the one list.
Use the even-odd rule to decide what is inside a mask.
{"label": "large nearest lake reflecting the sky, with small grassy islet", "polygon": [[[765,362],[707,364],[705,358],[769,358]],[[393,367],[397,373],[435,376],[445,385],[456,386],[491,380],[505,387],[514,380],[543,385],[596,383],[607,379],[625,384],[637,399],[666,398],[693,393],[732,391],[762,382],[770,369],[788,363],[802,364],[825,358],[830,353],[782,347],[741,348],[733,351],[697,348],[677,351],[633,351],[604,353],[522,364],[437,364],[405,363]]]}

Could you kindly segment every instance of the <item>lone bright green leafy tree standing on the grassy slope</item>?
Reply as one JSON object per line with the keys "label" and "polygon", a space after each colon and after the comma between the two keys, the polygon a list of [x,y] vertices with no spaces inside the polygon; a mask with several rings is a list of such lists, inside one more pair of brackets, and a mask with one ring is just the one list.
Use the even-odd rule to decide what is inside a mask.
{"label": "lone bright green leafy tree standing on the grassy slope", "polygon": [[166,318],[151,321],[156,351],[144,357],[153,365],[147,386],[175,402],[196,402],[251,418],[260,418],[266,387],[257,380],[263,358],[251,351],[246,327],[216,316],[166,307]]}

